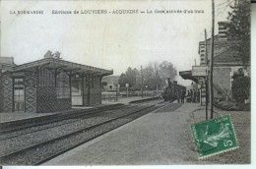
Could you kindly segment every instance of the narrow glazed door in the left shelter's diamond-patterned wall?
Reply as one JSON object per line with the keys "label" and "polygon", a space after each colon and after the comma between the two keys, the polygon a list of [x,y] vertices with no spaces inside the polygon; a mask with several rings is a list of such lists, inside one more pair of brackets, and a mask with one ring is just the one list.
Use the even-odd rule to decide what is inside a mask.
{"label": "narrow glazed door in the left shelter's diamond-patterned wall", "polygon": [[25,111],[24,84],[14,84],[14,111]]}

